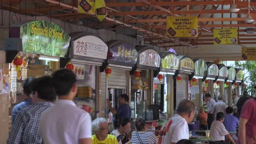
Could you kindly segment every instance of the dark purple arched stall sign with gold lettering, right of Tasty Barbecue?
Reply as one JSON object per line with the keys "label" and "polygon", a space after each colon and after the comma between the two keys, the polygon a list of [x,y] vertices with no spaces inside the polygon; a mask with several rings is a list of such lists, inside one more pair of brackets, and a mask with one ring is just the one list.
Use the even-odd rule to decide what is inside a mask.
{"label": "dark purple arched stall sign with gold lettering, right of Tasty Barbecue", "polygon": [[138,59],[138,52],[135,47],[124,40],[110,40],[106,42],[109,51],[106,61],[102,64],[101,71],[107,66],[131,70],[135,67]]}

